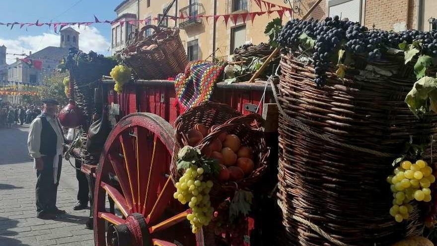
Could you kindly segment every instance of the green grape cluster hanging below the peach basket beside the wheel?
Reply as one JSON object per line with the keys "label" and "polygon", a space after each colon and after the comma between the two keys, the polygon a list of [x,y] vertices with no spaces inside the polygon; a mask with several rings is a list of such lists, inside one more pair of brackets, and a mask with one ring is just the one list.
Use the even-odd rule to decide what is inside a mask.
{"label": "green grape cluster hanging below the peach basket beside the wheel", "polygon": [[209,195],[213,181],[203,181],[203,173],[202,167],[192,165],[175,184],[177,191],[173,194],[173,197],[182,204],[188,202],[188,206],[192,209],[187,219],[192,225],[193,233],[196,233],[202,226],[208,226],[214,212]]}

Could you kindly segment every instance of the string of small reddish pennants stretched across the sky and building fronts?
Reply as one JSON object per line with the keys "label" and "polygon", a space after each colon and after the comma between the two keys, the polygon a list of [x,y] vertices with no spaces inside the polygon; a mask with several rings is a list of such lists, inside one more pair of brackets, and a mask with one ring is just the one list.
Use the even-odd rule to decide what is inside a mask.
{"label": "string of small reddish pennants stretched across the sky and building fronts", "polygon": [[[260,16],[260,15],[264,15],[264,14],[272,14],[274,12],[278,13],[279,17],[282,18],[284,13],[289,12],[290,16],[292,14],[292,9],[289,7],[285,7],[285,6],[280,6],[274,3],[271,3],[269,1],[265,1],[265,0],[252,0],[253,2],[255,2],[255,4],[259,7],[260,11],[255,11],[255,12],[243,12],[243,13],[235,13],[235,14],[218,14],[218,15],[196,15],[196,16],[184,16],[184,15],[180,15],[178,17],[175,16],[170,16],[167,17],[167,19],[173,19],[173,20],[177,20],[177,19],[190,19],[190,18],[205,18],[207,22],[209,22],[209,19],[212,18],[214,20],[214,22],[217,22],[218,19],[222,18],[224,20],[225,25],[227,26],[227,23],[229,21],[229,19],[231,19],[234,24],[237,23],[238,19],[241,18],[242,21],[244,23],[246,23],[247,18],[250,17],[250,20],[253,21],[255,19],[256,16]],[[154,20],[159,20],[158,17],[154,17]],[[70,26],[70,25],[78,25],[79,27],[81,25],[84,26],[89,26],[92,25],[94,23],[110,23],[111,25],[119,23],[120,25],[123,26],[123,24],[125,22],[128,22],[129,24],[136,24],[137,22],[140,23],[144,23],[144,24],[150,24],[147,23],[147,21],[149,21],[148,19],[142,19],[142,20],[104,20],[104,21],[100,21],[95,15],[94,15],[94,21],[85,21],[85,22],[43,22],[40,23],[39,20],[37,20],[35,23],[28,23],[28,22],[7,22],[7,23],[3,23],[0,22],[0,25],[6,25],[7,27],[10,26],[10,29],[12,29],[14,26],[18,26],[20,28],[23,27],[28,27],[28,26],[44,26],[47,25],[49,27],[53,26],[53,29],[55,31],[55,33],[58,32],[58,27],[59,30],[61,30],[62,28],[64,28],[65,26]]]}

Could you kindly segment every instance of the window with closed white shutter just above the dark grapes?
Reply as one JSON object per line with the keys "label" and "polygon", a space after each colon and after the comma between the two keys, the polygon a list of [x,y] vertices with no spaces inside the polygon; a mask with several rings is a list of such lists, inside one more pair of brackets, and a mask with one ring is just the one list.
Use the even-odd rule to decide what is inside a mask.
{"label": "window with closed white shutter just above the dark grapes", "polygon": [[329,16],[338,15],[353,22],[361,21],[361,0],[329,0]]}

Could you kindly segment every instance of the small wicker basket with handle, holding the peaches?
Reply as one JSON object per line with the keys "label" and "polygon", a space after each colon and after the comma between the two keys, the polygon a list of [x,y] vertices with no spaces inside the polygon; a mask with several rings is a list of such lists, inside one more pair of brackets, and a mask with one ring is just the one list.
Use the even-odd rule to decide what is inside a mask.
{"label": "small wicker basket with handle, holding the peaches", "polygon": [[[198,145],[201,150],[209,146],[218,136],[227,132],[235,134],[241,141],[241,146],[246,146],[252,149],[254,153],[255,169],[252,173],[237,181],[226,183],[214,183],[214,189],[211,190],[211,197],[222,198],[229,195],[230,192],[237,188],[249,187],[258,181],[267,168],[267,159],[269,150],[266,147],[264,133],[255,125],[254,122],[261,122],[261,116],[258,114],[250,114],[242,116],[230,106],[223,103],[206,102],[199,106],[193,107],[181,116],[175,122],[176,125],[176,144],[173,157],[177,157],[179,149],[188,145],[188,137],[186,133],[191,130],[194,125],[201,123],[208,128],[213,125],[221,125],[206,136]],[[170,167],[173,180],[180,177],[180,173],[176,170],[176,159],[173,158],[172,166]]]}

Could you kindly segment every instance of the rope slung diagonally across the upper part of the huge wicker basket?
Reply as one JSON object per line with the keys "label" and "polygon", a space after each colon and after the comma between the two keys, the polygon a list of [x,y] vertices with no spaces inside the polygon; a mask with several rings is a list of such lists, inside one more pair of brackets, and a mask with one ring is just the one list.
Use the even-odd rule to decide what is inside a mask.
{"label": "rope slung diagonally across the upper part of the huge wicker basket", "polygon": [[383,152],[379,152],[379,151],[375,151],[375,150],[370,150],[370,149],[363,148],[363,147],[358,147],[358,146],[355,146],[355,145],[340,143],[340,142],[338,142],[336,140],[333,140],[333,139],[331,139],[331,138],[329,138],[329,137],[327,137],[327,136],[325,136],[323,134],[319,134],[319,133],[315,132],[314,129],[311,129],[310,127],[306,126],[301,121],[299,121],[297,119],[291,118],[290,116],[288,116],[284,112],[281,104],[279,103],[278,93],[277,93],[277,90],[276,90],[276,86],[273,83],[273,76],[271,76],[268,79],[268,81],[270,82],[270,86],[272,87],[273,96],[275,98],[276,104],[278,105],[279,111],[281,112],[282,116],[285,119],[287,119],[288,121],[291,122],[291,124],[293,126],[300,128],[301,130],[303,130],[304,132],[306,132],[306,133],[308,133],[310,135],[313,135],[313,136],[318,137],[318,138],[320,138],[322,140],[325,140],[327,142],[330,142],[330,143],[333,143],[333,144],[336,144],[336,145],[339,145],[339,146],[342,146],[342,147],[345,147],[345,148],[349,148],[349,149],[356,150],[356,151],[361,151],[361,152],[368,153],[368,154],[373,154],[373,155],[379,156],[379,157],[396,157],[396,155],[393,155],[393,154],[388,154],[388,153],[383,153]]}

